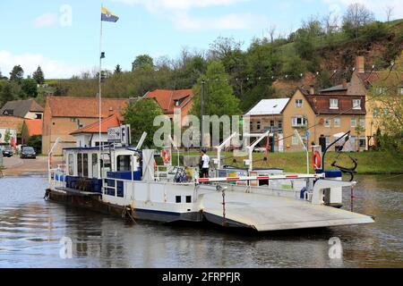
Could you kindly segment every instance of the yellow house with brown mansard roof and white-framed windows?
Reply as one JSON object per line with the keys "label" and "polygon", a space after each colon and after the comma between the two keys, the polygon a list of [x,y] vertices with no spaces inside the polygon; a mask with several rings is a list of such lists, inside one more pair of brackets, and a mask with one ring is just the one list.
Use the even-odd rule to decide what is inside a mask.
{"label": "yellow house with brown mansard roof and white-framed windows", "polygon": [[[351,131],[347,149],[366,148],[365,96],[347,94],[315,94],[313,88],[297,88],[290,98],[283,114],[284,147],[286,151],[301,150],[298,138],[293,135],[298,130],[308,147],[319,144],[321,135],[327,144],[339,137],[340,133]],[[360,126],[360,127],[359,127]],[[309,132],[307,132],[309,131]],[[308,133],[308,134],[307,134]],[[309,135],[308,137],[306,135]]]}

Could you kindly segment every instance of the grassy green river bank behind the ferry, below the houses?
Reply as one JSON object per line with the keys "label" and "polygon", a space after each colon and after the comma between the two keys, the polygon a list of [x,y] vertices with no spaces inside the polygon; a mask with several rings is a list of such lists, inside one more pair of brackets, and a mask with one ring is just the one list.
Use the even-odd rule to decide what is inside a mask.
{"label": "grassy green river bank behind the ferry, below the houses", "polygon": [[[198,153],[184,153],[181,155],[198,155]],[[215,156],[216,153],[210,152],[209,155]],[[226,156],[226,164],[236,165],[233,163],[232,153],[223,153]],[[330,164],[338,156],[335,152],[330,152],[325,157],[326,169],[335,169]],[[360,153],[343,153],[339,156],[338,164],[341,166],[351,167],[353,163],[348,156],[357,159],[358,167],[356,172],[360,174],[389,174],[403,173],[403,155],[385,151],[372,151]],[[255,168],[284,168],[284,172],[306,172],[306,154],[304,152],[289,153],[270,153],[268,161],[263,161],[264,153],[253,154],[253,167]],[[236,163],[239,167],[244,167],[244,159],[246,157],[236,157]],[[176,156],[173,156],[174,164],[176,164]],[[312,169],[312,153],[309,154],[310,172]]]}

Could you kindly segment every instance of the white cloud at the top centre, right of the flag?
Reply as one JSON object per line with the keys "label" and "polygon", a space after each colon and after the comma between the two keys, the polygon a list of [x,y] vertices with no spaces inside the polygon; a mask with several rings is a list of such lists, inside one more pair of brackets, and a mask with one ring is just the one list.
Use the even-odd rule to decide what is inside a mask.
{"label": "white cloud at the top centre, right of the flag", "polygon": [[227,13],[216,17],[200,17],[194,10],[211,6],[230,6],[251,0],[114,0],[123,4],[141,4],[150,13],[171,21],[176,29],[253,29],[267,25],[263,16],[251,13]]}

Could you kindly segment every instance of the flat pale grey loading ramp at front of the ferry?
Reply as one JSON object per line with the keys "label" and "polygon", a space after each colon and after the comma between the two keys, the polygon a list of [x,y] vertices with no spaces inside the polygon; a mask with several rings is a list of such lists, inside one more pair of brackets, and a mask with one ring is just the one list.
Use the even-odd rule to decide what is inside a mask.
{"label": "flat pale grey loading ramp at front of the ferry", "polygon": [[331,206],[312,205],[295,198],[226,191],[225,219],[222,192],[203,195],[204,217],[228,227],[279,231],[336,225],[374,223],[373,218]]}

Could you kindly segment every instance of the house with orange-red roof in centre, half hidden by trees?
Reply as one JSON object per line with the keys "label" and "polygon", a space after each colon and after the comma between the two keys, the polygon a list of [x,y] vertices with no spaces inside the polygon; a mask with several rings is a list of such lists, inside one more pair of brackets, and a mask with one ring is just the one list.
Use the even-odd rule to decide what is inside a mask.
{"label": "house with orange-red roof in centre, half hidden by trees", "polygon": [[156,89],[149,91],[144,98],[153,98],[164,114],[174,120],[174,114],[181,115],[181,122],[193,106],[193,89]]}

